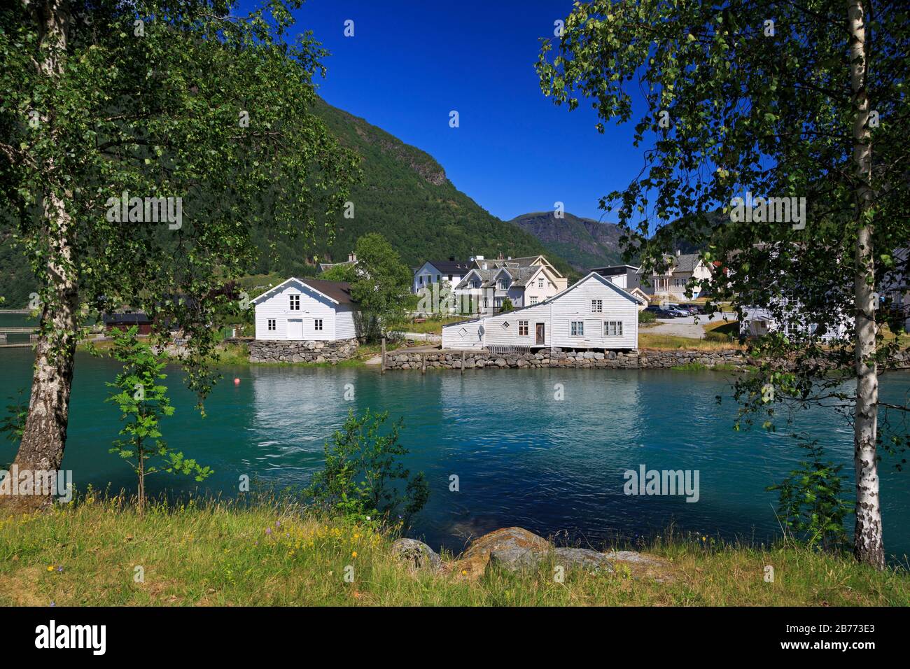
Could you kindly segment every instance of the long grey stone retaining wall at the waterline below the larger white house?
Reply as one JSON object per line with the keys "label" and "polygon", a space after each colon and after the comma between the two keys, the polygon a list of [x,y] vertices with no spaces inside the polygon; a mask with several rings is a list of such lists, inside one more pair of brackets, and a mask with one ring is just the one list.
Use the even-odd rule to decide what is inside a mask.
{"label": "long grey stone retaining wall at the waterline below the larger white house", "polygon": [[[681,365],[713,368],[743,367],[748,361],[742,350],[592,350],[544,349],[536,353],[490,353],[486,350],[464,351],[464,369],[572,367],[612,370],[660,370]],[[424,353],[393,351],[386,355],[387,370],[461,369],[460,350],[437,350]],[[910,369],[910,351],[898,353],[895,369]]]}

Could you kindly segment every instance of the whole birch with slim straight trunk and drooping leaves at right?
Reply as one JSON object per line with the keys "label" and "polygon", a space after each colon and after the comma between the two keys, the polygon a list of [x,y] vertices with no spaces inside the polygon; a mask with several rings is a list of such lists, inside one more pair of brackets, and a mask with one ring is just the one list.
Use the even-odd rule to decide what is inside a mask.
{"label": "whole birch with slim straight trunk and drooping leaves at right", "polygon": [[693,243],[713,272],[690,288],[771,313],[736,427],[815,403],[850,421],[854,554],[878,568],[882,451],[907,445],[906,404],[878,398],[908,316],[907,19],[868,0],[594,0],[537,63],[543,93],[590,103],[599,132],[638,115],[641,171],[601,201],[627,259],[662,270]]}

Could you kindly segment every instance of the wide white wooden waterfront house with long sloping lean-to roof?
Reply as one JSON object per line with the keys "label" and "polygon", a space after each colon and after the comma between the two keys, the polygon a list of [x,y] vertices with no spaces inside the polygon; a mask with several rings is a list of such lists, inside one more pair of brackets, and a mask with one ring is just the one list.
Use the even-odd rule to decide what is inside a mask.
{"label": "wide white wooden waterfront house with long sloping lean-to roof", "polygon": [[642,299],[591,272],[536,305],[442,328],[443,349],[637,349]]}

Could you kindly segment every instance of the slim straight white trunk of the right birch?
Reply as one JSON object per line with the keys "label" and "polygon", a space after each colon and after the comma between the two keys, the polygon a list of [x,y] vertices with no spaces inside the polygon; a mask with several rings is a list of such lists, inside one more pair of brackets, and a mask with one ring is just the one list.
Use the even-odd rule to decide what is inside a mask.
{"label": "slim straight white trunk of the right birch", "polygon": [[854,417],[854,470],[856,474],[856,528],[854,555],[861,563],[885,567],[882,510],[878,491],[875,442],[878,431],[878,370],[875,366],[875,279],[872,223],[872,142],[869,136],[869,99],[865,87],[865,15],[862,0],[848,0],[850,78],[854,93],[854,169],[856,175],[857,235],[854,274],[856,323],[856,415]]}

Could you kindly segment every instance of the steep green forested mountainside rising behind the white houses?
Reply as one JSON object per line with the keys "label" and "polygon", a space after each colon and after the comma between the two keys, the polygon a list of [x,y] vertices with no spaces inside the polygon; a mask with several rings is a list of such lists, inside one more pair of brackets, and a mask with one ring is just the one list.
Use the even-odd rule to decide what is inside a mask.
{"label": "steep green forested mountainside rising behind the white houses", "polygon": [[[319,262],[345,260],[367,232],[382,234],[410,266],[450,256],[495,258],[500,253],[519,257],[547,252],[530,232],[492,216],[455,188],[429,154],[321,100],[316,112],[362,158],[363,178],[349,198],[354,203],[354,218],[344,218],[339,212],[334,240],[324,239],[317,248],[306,247],[302,238],[269,238],[267,234],[258,240],[258,263],[249,274],[312,275],[315,258]],[[13,244],[8,223],[3,227],[0,295],[6,298],[6,308],[24,307],[29,292],[35,289],[32,275]],[[551,262],[563,273],[571,273],[563,259],[551,257]]]}

